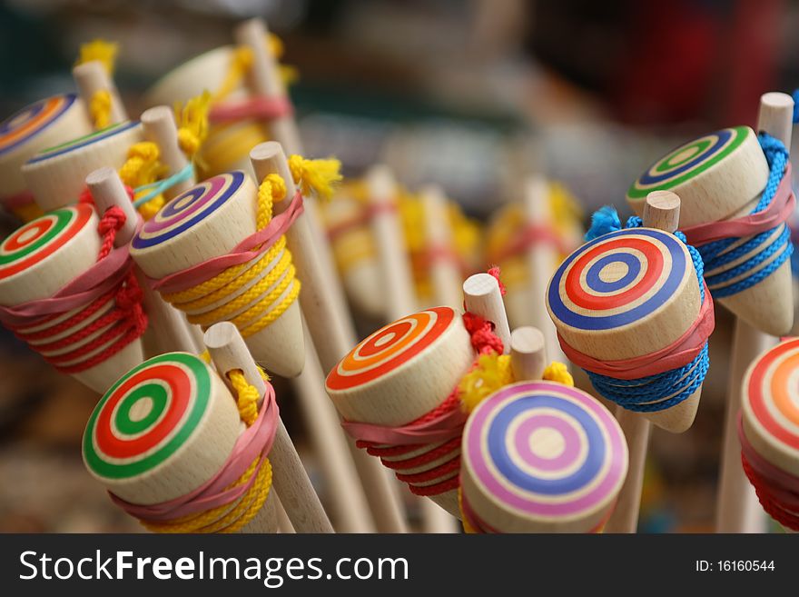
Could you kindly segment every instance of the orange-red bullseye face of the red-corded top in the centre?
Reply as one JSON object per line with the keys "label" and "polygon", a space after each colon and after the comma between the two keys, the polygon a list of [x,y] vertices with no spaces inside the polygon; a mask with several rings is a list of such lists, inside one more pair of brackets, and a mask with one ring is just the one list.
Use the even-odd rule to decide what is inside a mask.
{"label": "orange-red bullseye face of the red-corded top in the centre", "polygon": [[449,307],[435,307],[390,323],[353,348],[328,375],[329,390],[348,390],[394,371],[424,352],[460,318]]}

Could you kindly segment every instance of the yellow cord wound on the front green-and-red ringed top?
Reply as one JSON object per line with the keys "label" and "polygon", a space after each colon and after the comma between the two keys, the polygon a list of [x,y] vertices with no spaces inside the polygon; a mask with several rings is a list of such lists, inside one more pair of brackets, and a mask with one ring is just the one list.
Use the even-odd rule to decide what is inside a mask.
{"label": "yellow cord wound on the front green-and-red ringed top", "polygon": [[[269,377],[259,367],[261,376],[267,381]],[[248,427],[255,423],[258,418],[258,400],[261,396],[258,390],[244,378],[241,370],[233,370],[228,373],[231,380],[233,391],[236,393],[236,404],[239,408],[239,415]],[[256,474],[255,471],[261,463],[261,468]],[[217,508],[205,512],[190,514],[170,522],[147,522],[142,521],[143,526],[152,532],[174,533],[174,532],[237,532],[246,526],[261,511],[263,503],[266,502],[271,490],[272,470],[269,459],[259,456],[252,461],[247,470],[236,481],[231,483],[226,489],[238,487],[248,483],[252,475],[256,474],[255,480],[238,502],[235,504],[224,504]]]}

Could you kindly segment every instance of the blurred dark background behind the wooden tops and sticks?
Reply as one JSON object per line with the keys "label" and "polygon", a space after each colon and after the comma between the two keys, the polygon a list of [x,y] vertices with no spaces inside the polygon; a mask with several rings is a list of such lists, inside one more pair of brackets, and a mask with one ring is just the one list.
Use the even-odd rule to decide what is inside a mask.
{"label": "blurred dark background behind the wooden tops and sticks", "polygon": [[[78,48],[97,37],[119,44],[116,85],[138,114],[158,78],[232,43],[251,16],[280,35],[297,74],[306,154],[335,154],[350,176],[382,161],[410,189],[438,183],[476,222],[533,171],[585,214],[629,214],[626,188],[658,156],[755,124],[762,93],[799,84],[788,0],[15,0],[0,3],[0,120],[73,90]],[[654,431],[644,532],[713,529],[730,322],[719,309],[693,428]],[[97,396],[5,330],[0,351],[0,531],[139,530],[80,460]],[[281,409],[324,499],[291,398]]]}

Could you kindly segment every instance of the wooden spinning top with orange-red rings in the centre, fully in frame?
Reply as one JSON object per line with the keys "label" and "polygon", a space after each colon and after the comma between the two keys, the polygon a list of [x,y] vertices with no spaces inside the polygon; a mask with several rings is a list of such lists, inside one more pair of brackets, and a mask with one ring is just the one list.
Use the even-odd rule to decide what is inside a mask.
{"label": "wooden spinning top with orange-red rings in the centre, fully in frame", "polygon": [[[328,374],[325,387],[347,423],[369,423],[397,428],[416,422],[448,399],[474,361],[469,333],[459,313],[435,307],[390,323],[359,343]],[[388,438],[390,440],[390,438]],[[415,467],[400,468],[406,460],[453,444],[441,457]],[[392,445],[377,443],[378,448]],[[446,472],[425,481],[409,482],[422,494],[425,488],[447,484],[458,469],[446,467],[459,455],[459,436],[431,443],[403,445],[399,455],[381,455],[398,476]],[[435,473],[433,473],[435,474]],[[400,477],[401,478],[401,477]],[[434,492],[435,490],[429,490]],[[447,512],[459,516],[455,488],[429,494]]]}

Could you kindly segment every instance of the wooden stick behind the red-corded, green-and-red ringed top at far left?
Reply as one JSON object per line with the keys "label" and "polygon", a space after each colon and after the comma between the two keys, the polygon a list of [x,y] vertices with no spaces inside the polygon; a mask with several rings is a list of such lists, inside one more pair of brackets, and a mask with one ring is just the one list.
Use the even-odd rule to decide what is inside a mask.
{"label": "wooden stick behind the red-corded, green-and-red ringed top at far left", "polygon": [[[100,168],[86,176],[86,186],[89,187],[100,214],[113,205],[123,210],[125,223],[116,234],[114,244],[122,246],[130,243],[136,232],[139,214],[136,213],[119,174],[116,174],[113,168]],[[189,330],[189,324],[183,319],[182,314],[172,305],[164,302],[161,295],[150,288],[137,266],[133,267],[133,274],[142,289],[144,312],[150,318],[144,343],[150,348],[148,352],[153,353],[151,356],[172,351],[197,353],[198,347]]]}

